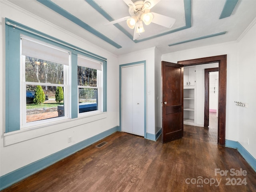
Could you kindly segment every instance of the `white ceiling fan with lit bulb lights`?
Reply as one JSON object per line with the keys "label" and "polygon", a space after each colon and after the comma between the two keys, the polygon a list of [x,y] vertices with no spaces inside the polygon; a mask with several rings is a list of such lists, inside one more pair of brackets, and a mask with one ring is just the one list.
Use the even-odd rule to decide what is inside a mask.
{"label": "white ceiling fan with lit bulb lights", "polygon": [[132,0],[123,1],[129,6],[128,12],[130,16],[111,21],[105,25],[115,24],[126,20],[128,27],[134,29],[133,40],[138,39],[140,33],[145,31],[143,23],[148,25],[152,22],[166,28],[171,28],[176,21],[174,18],[150,12],[150,9],[160,0],[138,0],[136,2],[132,2]]}

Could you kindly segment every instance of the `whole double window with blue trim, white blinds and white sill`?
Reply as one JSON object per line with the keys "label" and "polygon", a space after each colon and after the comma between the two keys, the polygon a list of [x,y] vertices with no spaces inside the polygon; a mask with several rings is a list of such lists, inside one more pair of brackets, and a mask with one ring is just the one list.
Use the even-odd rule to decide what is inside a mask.
{"label": "whole double window with blue trim, white blinds and white sill", "polygon": [[[13,144],[34,136],[65,129],[66,126],[54,126],[62,120],[65,123],[69,122],[69,119],[85,118],[83,122],[91,122],[106,117],[106,114],[100,113],[106,112],[106,58],[8,18],[5,20],[12,23],[12,25],[5,25],[6,119],[4,137],[6,143]],[[91,84],[78,84],[78,63],[84,68],[82,70],[93,72],[89,76]],[[88,82],[88,76],[83,78]],[[43,93],[36,94],[36,89]],[[55,101],[56,90],[63,92],[63,98],[60,98],[61,101],[58,102]],[[80,97],[78,92],[80,92]],[[34,98],[39,95],[43,95],[39,99],[43,104],[34,103]],[[79,113],[79,98],[80,105],[91,102],[91,104],[96,104],[96,108],[94,106],[88,112]],[[42,107],[47,103],[47,107]],[[53,110],[54,115],[48,116],[49,110]],[[32,118],[32,114],[36,118]],[[92,115],[86,116],[85,114]],[[80,123],[80,121],[77,122]],[[43,127],[46,127],[46,132],[43,129],[40,131],[35,129]],[[26,132],[24,130],[18,132],[19,134],[11,133],[25,128],[29,128],[27,130],[30,130],[31,134],[23,135],[22,133]],[[23,136],[20,137],[20,134]],[[14,135],[16,138],[12,140]]]}

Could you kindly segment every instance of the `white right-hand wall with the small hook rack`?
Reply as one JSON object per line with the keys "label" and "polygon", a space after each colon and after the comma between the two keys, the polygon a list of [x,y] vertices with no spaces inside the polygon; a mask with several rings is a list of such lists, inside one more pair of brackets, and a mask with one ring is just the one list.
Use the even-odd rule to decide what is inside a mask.
{"label": "white right-hand wall with the small hook rack", "polygon": [[[250,30],[249,30],[250,29]],[[238,142],[256,158],[256,19],[238,42]],[[232,100],[234,102],[234,100]]]}

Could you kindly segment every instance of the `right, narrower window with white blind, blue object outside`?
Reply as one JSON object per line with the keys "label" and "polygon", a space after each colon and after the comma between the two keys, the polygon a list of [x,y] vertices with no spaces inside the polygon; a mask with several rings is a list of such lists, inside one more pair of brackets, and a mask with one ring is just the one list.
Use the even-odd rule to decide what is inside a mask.
{"label": "right, narrower window with white blind, blue object outside", "polygon": [[79,55],[77,76],[78,113],[102,112],[102,64]]}

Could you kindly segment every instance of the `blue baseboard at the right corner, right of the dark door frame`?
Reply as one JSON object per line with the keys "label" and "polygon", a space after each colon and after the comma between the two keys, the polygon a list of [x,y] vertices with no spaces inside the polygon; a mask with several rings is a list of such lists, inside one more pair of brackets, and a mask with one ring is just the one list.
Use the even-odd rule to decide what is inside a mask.
{"label": "blue baseboard at the right corner, right of the dark door frame", "polygon": [[225,146],[237,149],[238,152],[256,172],[256,159],[238,141],[226,140]]}

